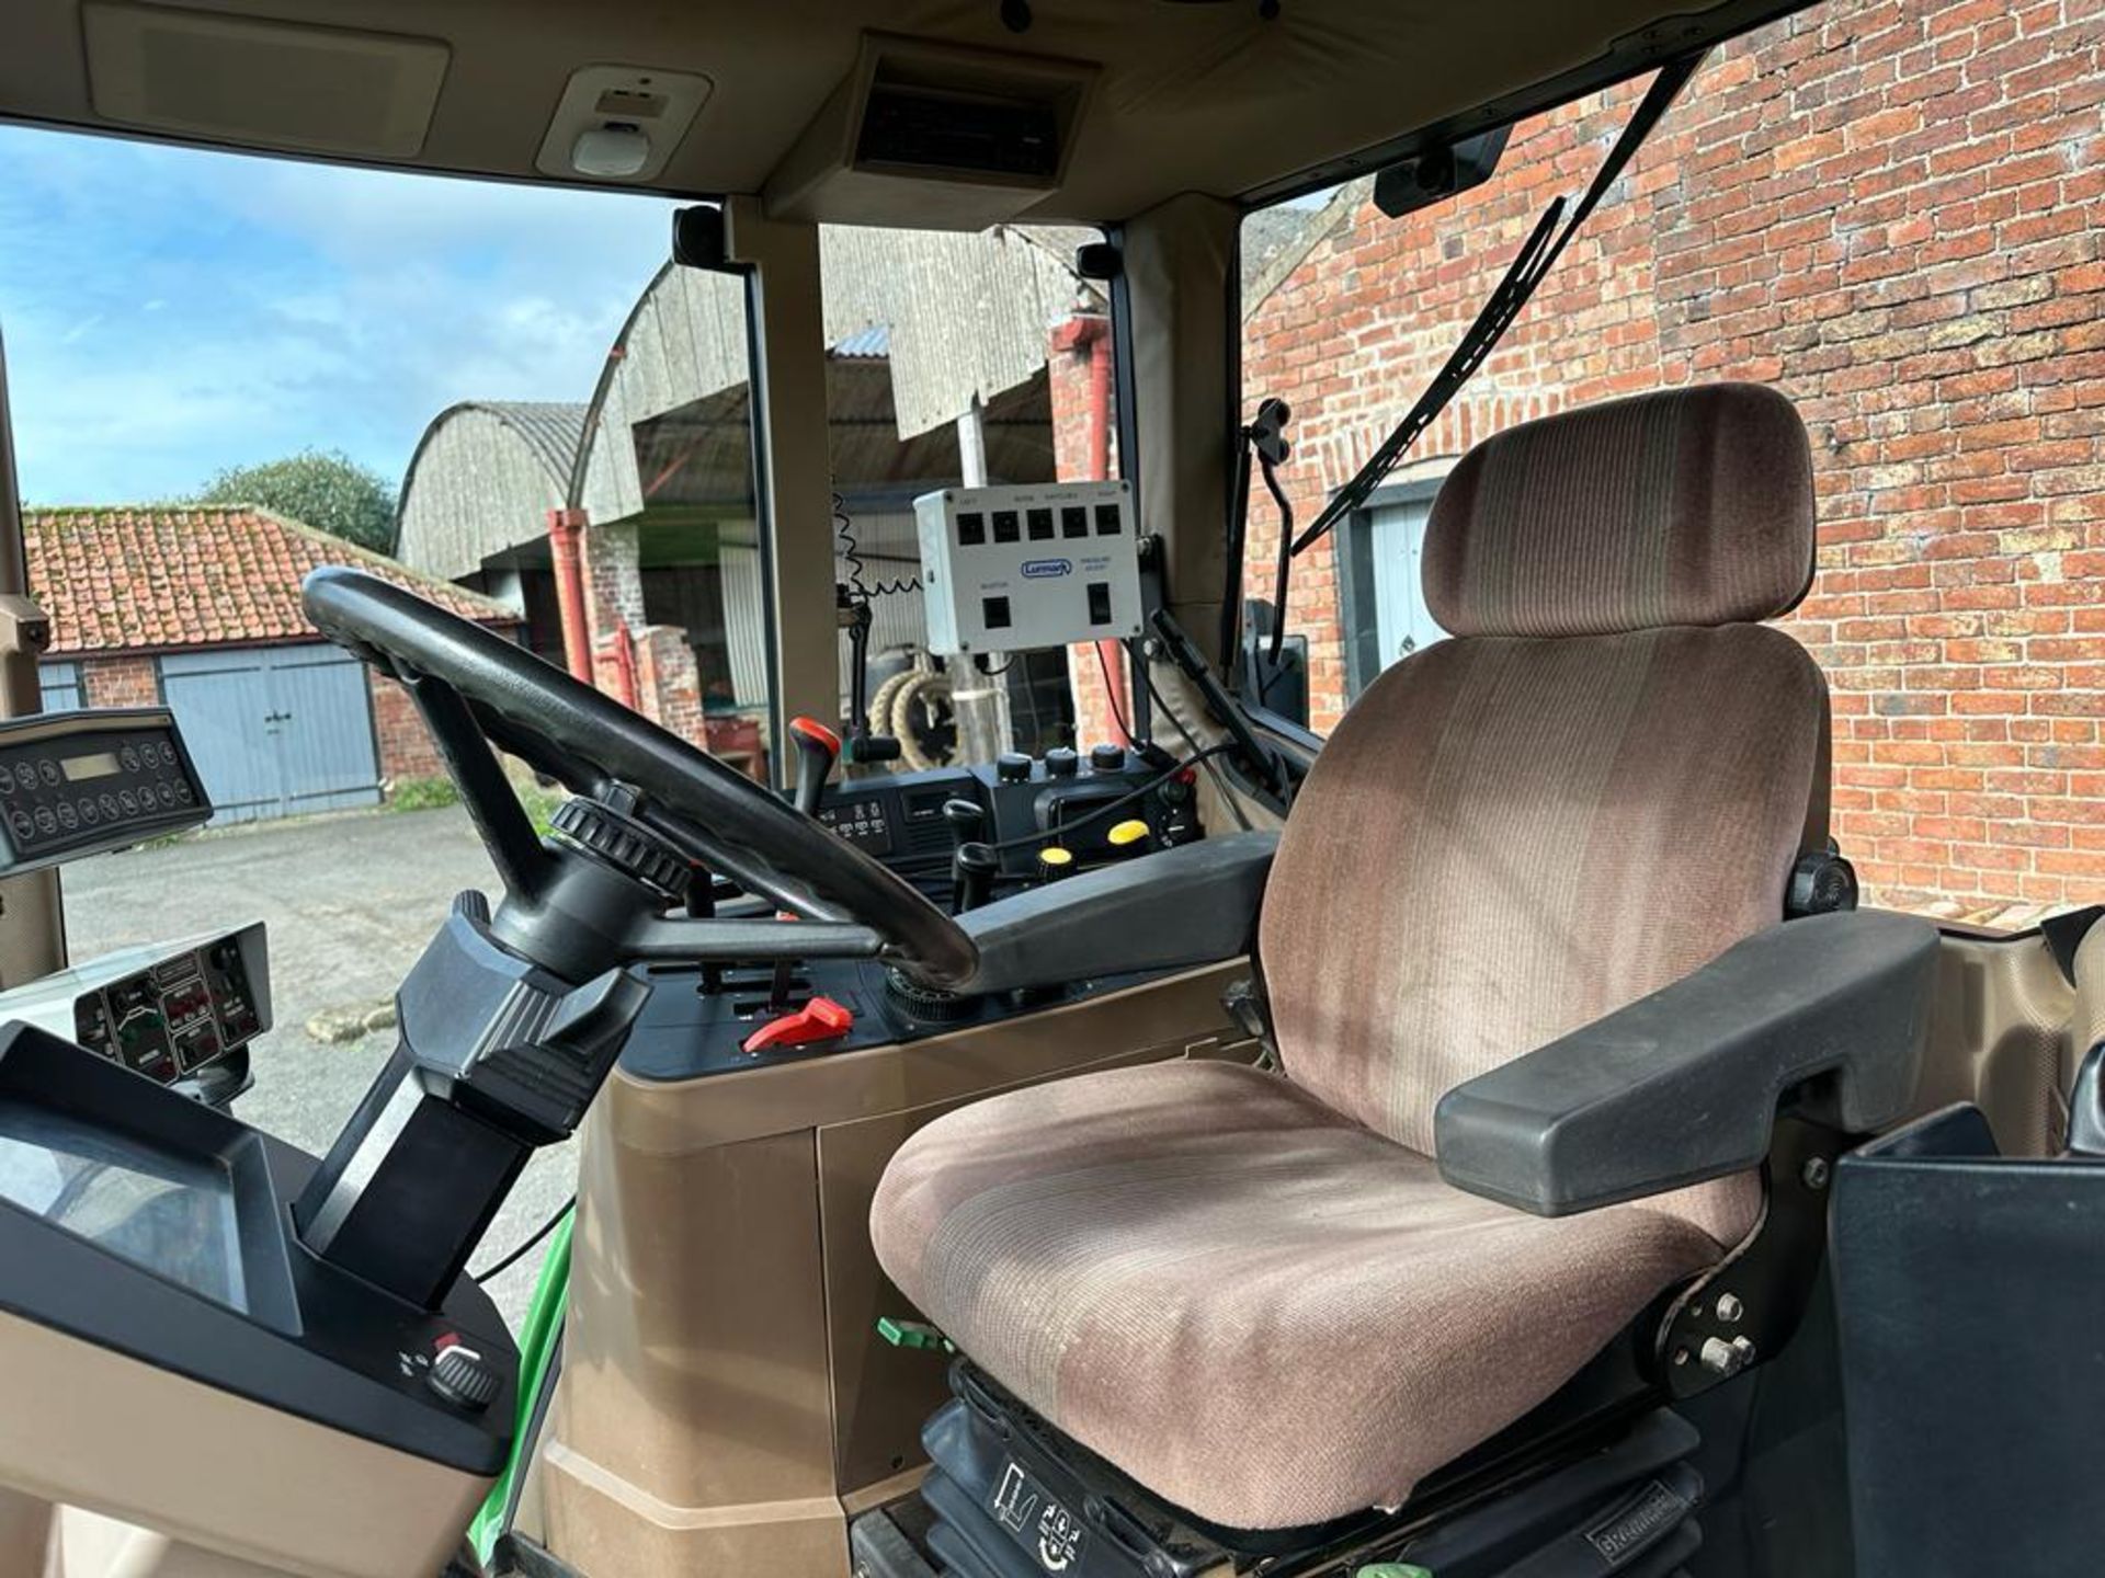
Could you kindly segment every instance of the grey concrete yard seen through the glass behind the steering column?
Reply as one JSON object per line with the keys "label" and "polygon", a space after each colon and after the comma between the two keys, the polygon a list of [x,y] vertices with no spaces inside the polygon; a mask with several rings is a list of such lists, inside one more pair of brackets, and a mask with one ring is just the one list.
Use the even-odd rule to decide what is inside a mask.
{"label": "grey concrete yard seen through the glass behind the steering column", "polygon": [[[392,1002],[463,888],[497,896],[497,875],[457,808],[257,823],[103,854],[63,875],[76,959],[253,919],[267,924],[276,1027],[255,1044],[255,1088],[234,1113],[316,1155],[373,1084],[394,1050],[394,1031],[326,1046],[305,1033],[307,1020]],[[469,1267],[509,1252],[573,1189],[575,1147],[539,1151]],[[537,1267],[539,1252],[490,1281],[514,1328]]]}

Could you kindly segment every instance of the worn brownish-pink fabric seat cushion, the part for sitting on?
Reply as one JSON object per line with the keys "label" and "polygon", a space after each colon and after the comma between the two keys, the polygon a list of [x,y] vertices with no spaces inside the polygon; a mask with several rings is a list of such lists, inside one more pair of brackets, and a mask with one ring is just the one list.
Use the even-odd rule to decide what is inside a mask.
{"label": "worn brownish-pink fabric seat cushion, the part for sitting on", "polygon": [[[1751,1180],[1735,1185],[1747,1193]],[[1318,1523],[1549,1397],[1722,1246],[1676,1197],[1545,1220],[1278,1075],[1164,1063],[928,1124],[878,1189],[899,1288],[1158,1496]]]}

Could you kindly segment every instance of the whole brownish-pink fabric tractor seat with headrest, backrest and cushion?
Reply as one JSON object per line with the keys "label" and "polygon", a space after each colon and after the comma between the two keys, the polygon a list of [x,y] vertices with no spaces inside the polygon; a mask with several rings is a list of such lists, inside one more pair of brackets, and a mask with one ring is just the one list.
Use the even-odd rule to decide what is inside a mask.
{"label": "whole brownish-pink fabric tractor seat with headrest, backrest and cushion", "polygon": [[1425,534],[1452,638],[1339,724],[1265,888],[1284,1073],[1120,1069],[928,1124],[871,1214],[893,1281],[1162,1500],[1284,1530],[1404,1502],[1718,1265],[1758,1168],[1530,1214],[1442,1174],[1436,1111],[1810,924],[1779,928],[1825,848],[1827,690],[1756,621],[1812,549],[1806,433],[1768,389],[1474,448]]}

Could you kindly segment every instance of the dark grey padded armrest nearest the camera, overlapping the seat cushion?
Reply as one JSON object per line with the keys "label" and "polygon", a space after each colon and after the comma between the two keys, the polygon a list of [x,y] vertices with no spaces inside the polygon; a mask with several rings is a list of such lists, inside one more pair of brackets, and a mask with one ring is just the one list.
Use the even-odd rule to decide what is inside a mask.
{"label": "dark grey padded armrest nearest the camera, overlapping the seat cushion", "polygon": [[1442,1096],[1440,1176],[1537,1216],[1722,1178],[1768,1155],[1777,1100],[1815,1075],[1812,1115],[1869,1134],[1916,1092],[1934,966],[1937,930],[1907,915],[1770,926]]}

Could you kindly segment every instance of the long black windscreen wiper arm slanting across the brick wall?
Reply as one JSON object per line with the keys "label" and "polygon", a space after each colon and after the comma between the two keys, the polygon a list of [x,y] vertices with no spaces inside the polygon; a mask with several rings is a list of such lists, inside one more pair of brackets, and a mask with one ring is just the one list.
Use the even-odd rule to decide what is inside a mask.
{"label": "long black windscreen wiper arm slanting across the brick wall", "polygon": [[[1404,412],[1404,419],[1396,423],[1389,436],[1381,442],[1368,459],[1366,465],[1332,494],[1330,503],[1322,507],[1316,520],[1309,522],[1307,530],[1292,541],[1290,553],[1303,553],[1311,543],[1322,541],[1322,537],[1337,526],[1345,515],[1356,509],[1364,509],[1368,497],[1379,488],[1389,471],[1398,467],[1412,444],[1423,438],[1425,429],[1438,421],[1446,404],[1461,393],[1461,387],[1476,377],[1476,370],[1484,364],[1505,330],[1520,316],[1520,309],[1528,305],[1528,297],[1535,295],[1535,286],[1543,282],[1549,269],[1556,267],[1558,257],[1564,252],[1570,238],[1579,234],[1587,217],[1600,206],[1602,198],[1608,196],[1608,187],[1617,183],[1629,160],[1636,158],[1638,149],[1644,147],[1644,139],[1650,137],[1652,126],[1667,114],[1680,90],[1688,86],[1688,78],[1697,74],[1703,65],[1707,50],[1695,55],[1684,55],[1676,61],[1667,61],[1659,67],[1652,78],[1652,86],[1644,90],[1644,99],[1629,116],[1629,124],[1623,126],[1623,135],[1615,139],[1615,147],[1608,149],[1608,158],[1602,162],[1600,170],[1593,175],[1591,185],[1581,194],[1579,202],[1570,208],[1570,219],[1560,227],[1558,221],[1564,219],[1564,198],[1558,198],[1543,210],[1543,217],[1535,221],[1535,229],[1528,231],[1528,240],[1520,246],[1520,252],[1507,265],[1505,276],[1499,280],[1499,288],[1490,292],[1490,299],[1478,311],[1476,322],[1469,324],[1469,332],[1461,337],[1455,353],[1448,356],[1434,381],[1425,385],[1425,393],[1417,398],[1417,404]],[[1282,610],[1284,612],[1284,610]]]}

